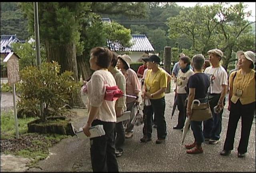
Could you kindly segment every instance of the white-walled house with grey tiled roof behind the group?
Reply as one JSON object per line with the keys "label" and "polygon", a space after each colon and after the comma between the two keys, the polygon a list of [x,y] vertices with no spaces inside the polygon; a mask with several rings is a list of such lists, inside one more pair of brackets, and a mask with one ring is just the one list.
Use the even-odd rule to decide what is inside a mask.
{"label": "white-walled house with grey tiled roof behind the group", "polygon": [[138,62],[144,53],[154,52],[152,44],[144,34],[132,34],[130,41],[133,43],[130,48],[123,47],[119,42],[112,42],[111,40],[107,40],[107,45],[114,52],[132,52],[129,56],[133,62]]}

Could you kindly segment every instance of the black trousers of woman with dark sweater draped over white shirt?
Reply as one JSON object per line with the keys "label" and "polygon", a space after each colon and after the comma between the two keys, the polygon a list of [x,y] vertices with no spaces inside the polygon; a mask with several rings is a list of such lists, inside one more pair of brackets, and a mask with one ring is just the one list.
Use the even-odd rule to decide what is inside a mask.
{"label": "black trousers of woman with dark sweater draped over white shirt", "polygon": [[182,128],[184,126],[186,120],[186,110],[185,110],[185,100],[187,98],[187,94],[177,94],[177,105],[179,109],[179,116],[178,116],[178,127]]}

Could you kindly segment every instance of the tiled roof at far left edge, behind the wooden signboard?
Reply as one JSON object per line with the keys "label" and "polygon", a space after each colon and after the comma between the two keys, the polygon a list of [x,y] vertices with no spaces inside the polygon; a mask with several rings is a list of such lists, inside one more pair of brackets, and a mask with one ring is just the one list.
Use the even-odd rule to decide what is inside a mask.
{"label": "tiled roof at far left edge, behind the wooden signboard", "polygon": [[11,44],[20,42],[20,40],[16,36],[1,36],[1,54],[9,53],[12,51]]}

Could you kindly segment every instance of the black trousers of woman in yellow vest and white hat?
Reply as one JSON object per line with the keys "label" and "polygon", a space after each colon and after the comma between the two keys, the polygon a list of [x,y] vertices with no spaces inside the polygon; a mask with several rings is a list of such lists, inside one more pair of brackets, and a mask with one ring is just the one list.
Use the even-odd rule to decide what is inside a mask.
{"label": "black trousers of woman in yellow vest and white hat", "polygon": [[255,101],[250,104],[242,105],[240,100],[236,104],[231,102],[229,120],[228,120],[228,130],[226,134],[226,140],[224,144],[224,150],[232,150],[234,148],[234,137],[236,133],[236,128],[240,117],[242,118],[242,130],[241,138],[238,145],[239,153],[246,153],[248,147],[248,141],[250,136],[250,131],[252,128],[252,121],[255,113]]}

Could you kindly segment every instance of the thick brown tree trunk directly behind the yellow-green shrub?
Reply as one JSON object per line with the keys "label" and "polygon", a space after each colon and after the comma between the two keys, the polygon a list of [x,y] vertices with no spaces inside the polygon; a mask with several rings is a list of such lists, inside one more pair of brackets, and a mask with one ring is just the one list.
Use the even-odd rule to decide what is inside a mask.
{"label": "thick brown tree trunk directly behind the yellow-green shrub", "polygon": [[[57,61],[61,65],[61,72],[72,71],[74,80],[78,83],[78,70],[76,63],[76,46],[74,43],[56,46],[50,41],[46,41],[46,55],[48,62]],[[80,90],[70,93],[70,106],[84,107]]]}

